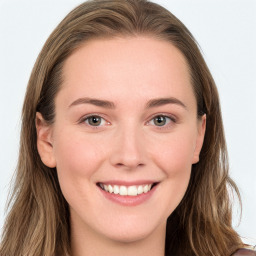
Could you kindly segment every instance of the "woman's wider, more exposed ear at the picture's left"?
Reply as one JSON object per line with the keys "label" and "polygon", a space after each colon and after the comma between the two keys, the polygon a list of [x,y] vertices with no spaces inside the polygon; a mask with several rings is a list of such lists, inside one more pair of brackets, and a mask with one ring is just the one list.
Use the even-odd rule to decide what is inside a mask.
{"label": "woman's wider, more exposed ear at the picture's left", "polygon": [[56,167],[52,146],[52,126],[47,124],[41,113],[36,113],[37,150],[42,162],[50,167]]}

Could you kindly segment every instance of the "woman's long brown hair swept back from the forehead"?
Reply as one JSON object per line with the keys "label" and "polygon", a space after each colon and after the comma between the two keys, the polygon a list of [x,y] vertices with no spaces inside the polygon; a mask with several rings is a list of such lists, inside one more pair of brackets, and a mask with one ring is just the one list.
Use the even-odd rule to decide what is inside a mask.
{"label": "woman's long brown hair swept back from the forehead", "polygon": [[231,255],[242,242],[232,228],[229,191],[239,196],[228,174],[218,92],[197,43],[168,10],[146,0],[94,0],[71,11],[52,32],[34,65],[22,112],[16,181],[1,242],[1,256],[68,255],[69,207],[55,168],[37,151],[36,112],[54,123],[54,99],[62,67],[86,40],[148,35],[173,44],[185,56],[197,100],[198,118],[207,115],[200,161],[192,166],[184,198],[169,216],[166,255]]}

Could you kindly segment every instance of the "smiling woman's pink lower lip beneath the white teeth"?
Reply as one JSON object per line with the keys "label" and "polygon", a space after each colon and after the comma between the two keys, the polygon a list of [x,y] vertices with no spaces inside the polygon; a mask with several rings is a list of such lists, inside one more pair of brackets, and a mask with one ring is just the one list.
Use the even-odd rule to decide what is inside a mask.
{"label": "smiling woman's pink lower lip beneath the white teeth", "polygon": [[156,190],[156,186],[154,186],[149,192],[142,193],[137,196],[120,196],[119,194],[109,193],[99,187],[99,190],[101,193],[105,196],[105,198],[111,200],[112,202],[115,202],[117,204],[121,204],[124,206],[136,206],[139,204],[142,204],[149,200],[153,193]]}

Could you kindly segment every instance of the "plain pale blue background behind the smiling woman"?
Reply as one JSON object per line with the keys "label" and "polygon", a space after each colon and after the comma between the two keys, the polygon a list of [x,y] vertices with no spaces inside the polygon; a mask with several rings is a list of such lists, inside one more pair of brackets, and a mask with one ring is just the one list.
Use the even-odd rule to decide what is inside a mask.
{"label": "plain pale blue background behind the smiling woman", "polygon": [[[243,217],[236,230],[256,244],[256,1],[158,0],[192,32],[219,88]],[[0,0],[0,228],[16,166],[20,112],[36,57],[78,0]],[[236,210],[234,211],[235,216]]]}

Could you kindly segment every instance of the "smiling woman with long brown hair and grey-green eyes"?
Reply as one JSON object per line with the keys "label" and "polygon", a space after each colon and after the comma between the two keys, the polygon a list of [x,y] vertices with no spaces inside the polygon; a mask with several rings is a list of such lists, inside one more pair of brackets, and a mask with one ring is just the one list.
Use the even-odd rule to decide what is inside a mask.
{"label": "smiling woman with long brown hair and grey-green eyes", "polygon": [[239,192],[213,78],[159,5],[74,9],[37,59],[22,117],[0,255],[255,255],[231,226],[227,186]]}

